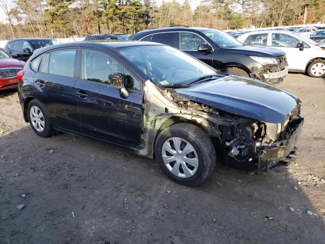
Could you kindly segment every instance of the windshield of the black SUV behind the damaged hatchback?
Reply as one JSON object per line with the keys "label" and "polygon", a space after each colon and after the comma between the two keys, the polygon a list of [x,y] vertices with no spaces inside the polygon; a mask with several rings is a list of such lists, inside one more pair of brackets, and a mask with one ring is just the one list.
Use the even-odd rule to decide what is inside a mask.
{"label": "windshield of the black SUV behind the damaged hatchback", "polygon": [[232,36],[226,34],[225,32],[218,31],[217,29],[203,29],[204,33],[208,38],[210,38],[219,47],[241,47],[243,44],[237,41]]}

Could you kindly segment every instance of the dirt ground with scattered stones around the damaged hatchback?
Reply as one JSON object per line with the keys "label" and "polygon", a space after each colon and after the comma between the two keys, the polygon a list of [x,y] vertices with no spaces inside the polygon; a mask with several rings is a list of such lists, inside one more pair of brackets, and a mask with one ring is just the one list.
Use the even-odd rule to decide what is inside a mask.
{"label": "dirt ground with scattered stones around the damaged hatchback", "polygon": [[217,165],[195,188],[102,142],[38,137],[17,92],[1,92],[0,243],[325,243],[325,80],[280,86],[303,102],[294,162],[257,175]]}

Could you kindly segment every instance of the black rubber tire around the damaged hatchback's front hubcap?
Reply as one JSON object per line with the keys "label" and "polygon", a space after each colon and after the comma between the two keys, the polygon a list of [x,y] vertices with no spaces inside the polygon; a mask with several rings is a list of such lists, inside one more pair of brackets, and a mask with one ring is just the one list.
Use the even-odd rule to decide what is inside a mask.
{"label": "black rubber tire around the damaged hatchback's front hubcap", "polygon": [[[190,177],[182,178],[174,175],[164,163],[162,155],[163,145],[172,137],[186,140],[196,151],[198,156],[198,167],[196,172]],[[191,187],[201,184],[213,172],[216,164],[216,152],[210,138],[201,128],[186,123],[170,126],[159,134],[155,143],[155,157],[160,168],[163,169],[172,180]],[[181,166],[179,169],[182,170]]]}

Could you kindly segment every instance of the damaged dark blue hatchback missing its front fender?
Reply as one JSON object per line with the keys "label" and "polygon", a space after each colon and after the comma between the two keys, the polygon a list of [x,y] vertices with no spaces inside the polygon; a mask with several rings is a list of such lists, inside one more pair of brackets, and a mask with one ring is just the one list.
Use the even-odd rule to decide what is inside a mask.
{"label": "damaged dark blue hatchback missing its front fender", "polygon": [[267,170],[302,132],[300,100],[147,42],[79,42],[36,50],[19,72],[26,121],[99,139],[149,158],[196,186],[216,162]]}

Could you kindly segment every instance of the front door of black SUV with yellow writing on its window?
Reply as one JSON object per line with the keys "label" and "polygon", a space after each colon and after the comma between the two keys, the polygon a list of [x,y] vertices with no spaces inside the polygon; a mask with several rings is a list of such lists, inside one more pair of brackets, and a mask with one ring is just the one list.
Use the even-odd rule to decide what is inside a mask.
{"label": "front door of black SUV with yellow writing on its window", "polygon": [[[179,50],[188,53],[189,55],[200,59],[207,65],[212,66],[213,51],[199,52],[198,47],[203,44],[208,44],[201,36],[195,33],[180,32],[179,33]],[[211,48],[212,49],[212,48]]]}

